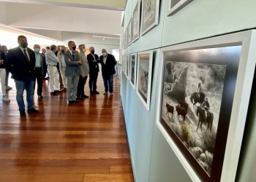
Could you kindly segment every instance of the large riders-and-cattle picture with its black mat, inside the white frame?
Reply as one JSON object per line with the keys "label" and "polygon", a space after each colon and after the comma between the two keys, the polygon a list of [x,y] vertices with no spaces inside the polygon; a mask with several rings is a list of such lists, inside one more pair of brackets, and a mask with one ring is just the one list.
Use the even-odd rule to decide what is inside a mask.
{"label": "large riders-and-cattle picture with its black mat, inside the white frame", "polygon": [[163,53],[160,123],[203,181],[221,175],[240,56],[241,45]]}

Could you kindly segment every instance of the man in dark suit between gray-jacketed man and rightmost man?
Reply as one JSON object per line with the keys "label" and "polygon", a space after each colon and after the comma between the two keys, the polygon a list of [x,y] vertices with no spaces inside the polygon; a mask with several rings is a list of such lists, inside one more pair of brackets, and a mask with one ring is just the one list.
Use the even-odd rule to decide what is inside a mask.
{"label": "man in dark suit between gray-jacketed man and rightmost man", "polygon": [[93,95],[94,93],[99,94],[97,91],[97,78],[99,73],[99,65],[97,63],[97,60],[99,59],[99,56],[94,54],[94,47],[90,47],[91,53],[87,55],[87,60],[90,67],[90,79],[89,79],[89,88],[90,93]]}

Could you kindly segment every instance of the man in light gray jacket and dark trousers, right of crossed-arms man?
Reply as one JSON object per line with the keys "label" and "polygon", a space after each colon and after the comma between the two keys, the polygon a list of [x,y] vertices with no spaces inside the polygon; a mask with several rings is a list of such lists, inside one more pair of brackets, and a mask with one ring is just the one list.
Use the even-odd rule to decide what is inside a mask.
{"label": "man in light gray jacket and dark trousers, right of crossed-arms man", "polygon": [[80,50],[79,56],[80,56],[80,60],[82,60],[82,65],[80,66],[80,77],[78,82],[77,99],[83,100],[85,98],[89,98],[89,96],[84,94],[84,86],[86,85],[86,80],[87,80],[90,68],[89,68],[89,63],[86,58],[86,55],[84,55],[84,53],[86,52],[86,45],[80,44],[79,50]]}

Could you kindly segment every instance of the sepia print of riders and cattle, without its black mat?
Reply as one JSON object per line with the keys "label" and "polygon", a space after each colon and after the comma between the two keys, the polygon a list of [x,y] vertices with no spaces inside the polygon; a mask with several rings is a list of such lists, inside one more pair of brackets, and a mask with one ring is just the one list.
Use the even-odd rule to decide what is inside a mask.
{"label": "sepia print of riders and cattle, without its black mat", "polygon": [[164,58],[162,121],[211,175],[227,66]]}

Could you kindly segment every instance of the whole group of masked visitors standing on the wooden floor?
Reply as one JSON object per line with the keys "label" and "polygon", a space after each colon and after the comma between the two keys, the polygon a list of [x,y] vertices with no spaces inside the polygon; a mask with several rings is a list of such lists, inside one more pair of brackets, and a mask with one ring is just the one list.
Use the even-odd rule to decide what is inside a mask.
{"label": "whole group of masked visitors standing on the wooden floor", "polygon": [[[18,47],[9,50],[7,56],[4,56],[1,52],[0,71],[2,67],[4,70],[10,71],[12,79],[15,80],[16,100],[20,116],[26,116],[23,100],[24,90],[26,90],[28,113],[39,114],[39,111],[34,108],[35,82],[37,82],[38,98],[42,99],[42,82],[47,71],[50,76],[50,95],[57,95],[66,91],[67,104],[71,105],[78,103],[78,100],[89,98],[84,92],[88,76],[90,78],[90,94],[99,94],[97,91],[97,77],[99,73],[98,64],[100,63],[105,86],[104,95],[107,95],[108,92],[113,95],[113,75],[116,73],[116,59],[113,55],[108,54],[105,49],[102,50],[102,55],[98,56],[94,52],[94,47],[90,47],[90,53],[86,57],[86,45],[80,44],[78,52],[75,41],[68,42],[67,50],[64,46],[57,47],[56,45],[45,48],[46,50],[42,49],[42,53],[40,53],[39,44],[35,44],[34,50],[31,50],[28,47],[26,36],[18,36]],[[46,66],[47,69],[45,69]],[[63,89],[59,89],[59,76],[61,76],[63,82]],[[4,100],[7,95],[6,88],[3,88],[2,79],[1,84]],[[10,101],[10,99],[8,100]]]}

